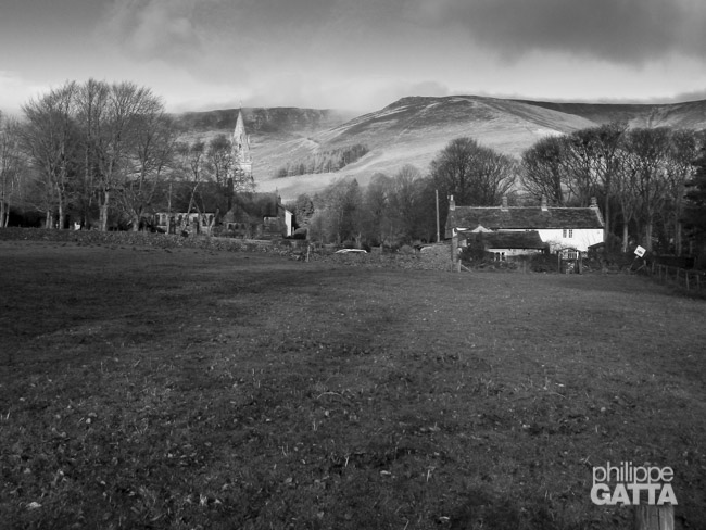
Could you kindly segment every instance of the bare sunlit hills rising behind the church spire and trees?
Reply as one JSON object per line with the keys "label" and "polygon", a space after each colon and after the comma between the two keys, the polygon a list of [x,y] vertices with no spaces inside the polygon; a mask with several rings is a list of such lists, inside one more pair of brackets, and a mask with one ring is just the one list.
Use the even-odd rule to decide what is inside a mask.
{"label": "bare sunlit hills rising behind the church spire and trees", "polygon": [[[185,137],[207,138],[235,127],[238,110],[188,113],[177,121]],[[316,192],[337,178],[362,185],[375,173],[394,174],[411,163],[426,172],[446,143],[462,136],[518,156],[538,139],[625,121],[631,127],[706,128],[706,101],[675,104],[554,103],[451,96],[408,97],[361,116],[335,110],[243,109],[251,135],[255,178],[285,201]],[[275,178],[288,163],[317,153],[365,144],[369,152],[337,173]]]}

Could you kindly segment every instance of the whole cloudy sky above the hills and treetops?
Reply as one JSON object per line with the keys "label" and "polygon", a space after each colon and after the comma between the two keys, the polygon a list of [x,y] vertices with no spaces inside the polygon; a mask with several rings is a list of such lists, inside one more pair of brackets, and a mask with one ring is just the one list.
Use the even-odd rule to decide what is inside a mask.
{"label": "whole cloudy sky above the hills and treetops", "polygon": [[147,86],[174,112],[706,99],[706,2],[0,0],[0,110],[89,77]]}

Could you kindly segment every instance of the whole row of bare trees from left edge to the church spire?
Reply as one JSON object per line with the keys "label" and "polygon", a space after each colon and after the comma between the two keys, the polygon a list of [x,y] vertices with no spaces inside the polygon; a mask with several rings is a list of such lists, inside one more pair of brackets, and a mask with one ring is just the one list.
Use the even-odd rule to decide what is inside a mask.
{"label": "whole row of bare trees from left edge to the church spire", "polygon": [[174,119],[149,88],[67,81],[0,115],[0,226],[12,212],[65,228],[137,230],[155,211],[229,209],[250,177],[231,172],[230,141],[179,140]]}

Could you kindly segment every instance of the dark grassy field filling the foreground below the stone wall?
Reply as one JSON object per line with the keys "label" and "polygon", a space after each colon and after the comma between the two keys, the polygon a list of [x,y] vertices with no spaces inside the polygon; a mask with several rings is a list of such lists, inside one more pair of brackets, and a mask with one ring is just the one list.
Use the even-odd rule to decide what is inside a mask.
{"label": "dark grassy field filling the foreground below the stone wall", "polygon": [[0,527],[626,528],[609,460],[704,528],[705,321],[626,275],[0,241]]}

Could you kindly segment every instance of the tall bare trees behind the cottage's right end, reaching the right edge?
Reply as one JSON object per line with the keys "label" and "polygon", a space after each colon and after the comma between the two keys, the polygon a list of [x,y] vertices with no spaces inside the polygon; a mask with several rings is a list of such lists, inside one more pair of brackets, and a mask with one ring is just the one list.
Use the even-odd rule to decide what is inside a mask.
{"label": "tall bare trees behind the cottage's right end, reaching the right edge", "polygon": [[535,142],[522,153],[521,182],[558,206],[602,199],[606,237],[623,251],[632,238],[680,254],[685,182],[702,144],[693,130],[602,125]]}

